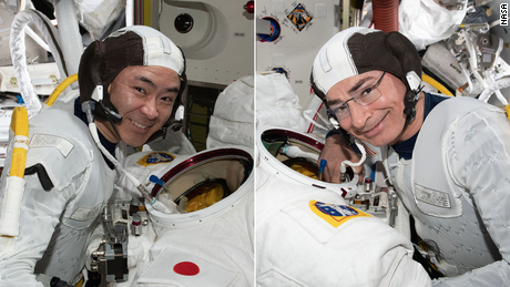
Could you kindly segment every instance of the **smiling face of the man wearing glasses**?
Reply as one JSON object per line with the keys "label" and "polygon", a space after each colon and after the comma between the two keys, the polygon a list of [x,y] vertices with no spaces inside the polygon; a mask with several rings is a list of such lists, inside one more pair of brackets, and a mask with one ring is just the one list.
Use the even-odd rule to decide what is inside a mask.
{"label": "smiling face of the man wearing glasses", "polygon": [[[375,146],[400,142],[406,124],[406,85],[390,73],[386,73],[381,79],[382,73],[369,71],[347,78],[329,89],[326,95],[329,107],[335,110],[354,95],[366,94],[374,85],[377,86],[377,92],[380,93],[377,100],[367,105],[349,101],[347,105],[350,114],[339,121],[340,126],[348,133]],[[379,79],[380,82],[377,84]]]}

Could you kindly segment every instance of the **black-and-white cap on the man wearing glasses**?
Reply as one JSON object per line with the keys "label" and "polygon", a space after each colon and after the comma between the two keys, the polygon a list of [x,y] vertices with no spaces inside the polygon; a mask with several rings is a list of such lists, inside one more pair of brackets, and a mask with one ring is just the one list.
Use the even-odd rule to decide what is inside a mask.
{"label": "black-and-white cap on the man wearing glasses", "polygon": [[421,63],[415,45],[399,32],[353,27],[345,29],[319,50],[312,69],[312,86],[325,101],[336,83],[353,75],[373,70],[386,71],[399,78],[408,91],[407,73],[421,76]]}

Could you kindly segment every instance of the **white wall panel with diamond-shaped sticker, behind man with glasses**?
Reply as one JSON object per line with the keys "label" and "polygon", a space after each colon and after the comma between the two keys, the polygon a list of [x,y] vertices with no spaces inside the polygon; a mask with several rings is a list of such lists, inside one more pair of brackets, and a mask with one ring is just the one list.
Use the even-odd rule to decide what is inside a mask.
{"label": "white wall panel with diamond-shaped sticker, behind man with glasses", "polygon": [[[284,13],[275,11],[276,2],[284,3]],[[293,18],[292,12],[299,3],[304,8],[302,11],[306,11],[312,17],[309,21],[307,21],[306,14],[305,18],[302,18],[307,23],[300,31],[288,18],[289,14]],[[299,104],[304,110],[312,102],[309,75],[315,55],[320,47],[338,31],[338,24],[335,23],[335,3],[338,1],[325,0],[317,3],[317,1],[312,0],[300,2],[257,0],[256,17],[258,19],[275,19],[280,25],[280,35],[272,42],[262,42],[257,38],[256,70],[262,72],[273,68],[285,69],[290,85],[298,95]],[[294,16],[299,16],[299,13],[294,12]]]}

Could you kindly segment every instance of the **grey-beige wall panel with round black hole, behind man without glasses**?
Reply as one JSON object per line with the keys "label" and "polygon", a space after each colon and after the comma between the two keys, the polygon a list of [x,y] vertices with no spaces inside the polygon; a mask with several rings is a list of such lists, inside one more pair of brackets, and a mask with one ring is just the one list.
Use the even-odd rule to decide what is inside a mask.
{"label": "grey-beige wall panel with round black hole, behind man without glasses", "polygon": [[[162,1],[160,31],[183,49],[190,80],[230,84],[253,74],[254,14],[244,10],[246,2]],[[188,33],[180,33],[174,27],[174,20],[181,13],[194,19]]]}

